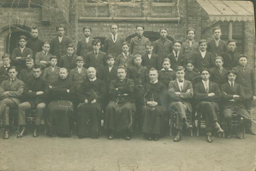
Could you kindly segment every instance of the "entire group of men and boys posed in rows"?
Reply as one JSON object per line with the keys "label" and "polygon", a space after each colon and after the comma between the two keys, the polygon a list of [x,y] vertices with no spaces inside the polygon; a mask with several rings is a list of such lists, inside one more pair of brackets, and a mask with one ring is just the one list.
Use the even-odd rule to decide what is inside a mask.
{"label": "entire group of men and boys posed in rows", "polygon": [[118,25],[112,24],[104,53],[99,50],[101,41],[90,37],[92,29],[84,27],[76,55],[71,38],[64,35],[64,25],[56,30],[57,37],[42,42],[34,27],[30,40],[19,37],[11,63],[9,55],[2,57],[0,115],[4,139],[9,138],[10,108],[15,107],[18,138],[26,135],[25,114],[31,109],[36,110],[34,137],[45,109],[50,136],[69,135],[75,118],[75,132],[80,138],[98,138],[103,110],[108,139],[120,133],[129,140],[136,120],[148,140],[158,140],[167,130],[166,109],[177,112],[176,142],[181,140],[182,130],[195,126],[186,118],[187,112],[195,111],[205,115],[207,142],[212,142],[213,128],[223,132],[219,112],[227,123],[226,138],[231,137],[232,111],[244,118],[234,130],[236,138],[242,138],[239,132],[243,127],[255,135],[250,119],[251,103],[256,99],[254,71],[246,65],[247,57],[235,51],[235,40],[226,44],[220,39],[220,28],[213,29],[210,43],[194,41],[196,31],[192,28],[184,43],[172,42],[166,38],[167,29],[162,28],[161,38],[153,45],[143,36],[143,26],[136,26],[136,36],[128,44],[118,34]]}

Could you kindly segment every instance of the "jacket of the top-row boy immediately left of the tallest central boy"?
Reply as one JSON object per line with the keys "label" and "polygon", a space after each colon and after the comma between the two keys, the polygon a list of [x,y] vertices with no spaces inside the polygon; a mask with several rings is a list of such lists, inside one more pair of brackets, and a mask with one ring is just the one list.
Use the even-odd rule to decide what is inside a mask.
{"label": "jacket of the top-row boy immediately left of the tallest central boy", "polygon": [[78,41],[76,48],[76,55],[85,57],[86,53],[93,51],[93,45],[91,44],[94,39],[89,38],[88,43],[85,41],[85,37]]}

